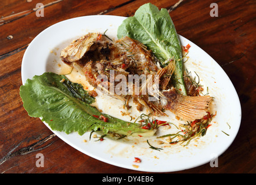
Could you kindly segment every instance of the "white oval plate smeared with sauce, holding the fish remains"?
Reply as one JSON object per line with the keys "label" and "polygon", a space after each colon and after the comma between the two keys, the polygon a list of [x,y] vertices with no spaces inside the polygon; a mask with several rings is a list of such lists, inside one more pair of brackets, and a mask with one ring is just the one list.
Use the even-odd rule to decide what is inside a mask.
{"label": "white oval plate smeared with sauce, holding the fish remains", "polygon": [[[24,53],[21,65],[23,84],[34,75],[42,75],[49,71],[57,73],[57,68],[54,66],[56,67],[56,64],[64,65],[60,61],[60,50],[73,39],[88,32],[103,33],[106,29],[108,36],[116,37],[117,28],[124,19],[125,17],[119,16],[77,17],[45,29],[35,37]],[[150,139],[153,146],[163,147],[163,150],[157,151],[149,148],[145,138],[136,138],[135,140],[106,138],[103,142],[95,142],[95,138],[89,140],[89,132],[82,136],[76,132],[69,135],[59,131],[52,132],[82,153],[122,168],[145,172],[173,172],[193,168],[207,162],[211,168],[214,165],[213,160],[228,149],[237,135],[241,121],[241,106],[236,90],[221,66],[194,43],[182,36],[179,38],[182,46],[188,44],[191,46],[188,54],[189,60],[185,63],[186,68],[193,75],[196,72],[200,76],[200,83],[204,84],[205,89],[208,87],[208,92],[214,97],[213,109],[217,111],[217,116],[212,120],[212,126],[207,129],[205,136],[192,140],[188,146],[178,144],[163,147],[155,142],[156,138]],[[120,112],[120,108],[118,108],[116,100],[109,98],[108,101],[109,105],[100,101],[99,98],[99,108],[105,113],[120,117],[120,114],[117,113]],[[112,106],[111,102],[116,106]],[[120,118],[129,119],[129,117]],[[170,122],[177,123],[173,117],[163,119],[170,119]],[[48,124],[45,123],[45,125],[49,128]],[[139,157],[142,162],[134,162],[134,157]]]}

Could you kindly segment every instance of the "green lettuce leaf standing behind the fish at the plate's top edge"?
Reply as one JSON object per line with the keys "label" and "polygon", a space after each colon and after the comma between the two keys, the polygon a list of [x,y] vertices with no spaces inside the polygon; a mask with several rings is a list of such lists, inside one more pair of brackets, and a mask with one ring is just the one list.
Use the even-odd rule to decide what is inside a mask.
{"label": "green lettuce leaf standing behind the fish at the plate's top edge", "polygon": [[117,37],[120,39],[124,36],[139,40],[152,50],[162,67],[168,65],[168,61],[174,58],[175,87],[186,95],[181,43],[167,9],[158,10],[152,3],[140,6],[133,17],[126,18],[118,27]]}

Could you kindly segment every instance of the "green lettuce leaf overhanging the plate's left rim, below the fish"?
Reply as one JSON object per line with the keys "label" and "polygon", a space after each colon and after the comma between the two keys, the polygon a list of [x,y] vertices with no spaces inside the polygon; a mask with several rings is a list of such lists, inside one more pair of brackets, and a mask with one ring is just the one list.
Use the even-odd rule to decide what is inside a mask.
{"label": "green lettuce leaf overhanging the plate's left rim, below the fish", "polygon": [[[152,130],[140,128],[139,124],[100,113],[90,105],[95,99],[81,84],[70,82],[64,75],[46,72],[28,79],[20,87],[20,97],[29,116],[39,117],[56,131],[67,134],[76,131],[82,135],[87,131],[100,129],[104,134],[109,131],[123,135],[154,134]],[[95,117],[101,115],[107,117],[108,121]]]}

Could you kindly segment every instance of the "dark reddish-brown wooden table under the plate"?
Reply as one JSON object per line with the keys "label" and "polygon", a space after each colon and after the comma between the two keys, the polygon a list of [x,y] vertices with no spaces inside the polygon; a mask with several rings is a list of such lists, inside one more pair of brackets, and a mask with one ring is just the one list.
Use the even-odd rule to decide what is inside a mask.
{"label": "dark reddish-brown wooden table under the plate", "polygon": [[[36,16],[37,3],[44,17]],[[109,14],[133,16],[148,1],[131,0],[3,0],[0,4],[0,172],[1,173],[142,173],[95,160],[55,136],[39,119],[28,116],[19,95],[21,60],[41,31],[68,18]],[[218,167],[204,164],[176,173],[256,172],[256,2],[151,1],[169,10],[178,34],[206,51],[232,80],[242,119],[232,145],[218,158]],[[212,2],[218,17],[212,17]],[[215,12],[216,13],[216,12]],[[35,165],[45,156],[44,168]]]}

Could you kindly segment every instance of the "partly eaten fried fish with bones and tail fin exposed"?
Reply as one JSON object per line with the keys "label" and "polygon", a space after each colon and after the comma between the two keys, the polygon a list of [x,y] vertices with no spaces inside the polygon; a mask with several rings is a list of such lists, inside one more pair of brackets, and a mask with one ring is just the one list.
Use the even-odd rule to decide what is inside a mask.
{"label": "partly eaten fried fish with bones and tail fin exposed", "polygon": [[[176,92],[172,85],[171,76],[175,69],[175,60],[170,60],[165,68],[161,68],[158,59],[151,50],[138,40],[125,36],[118,40],[110,40],[99,33],[89,33],[74,40],[61,51],[60,57],[67,65],[73,66],[93,87],[102,88],[111,97],[120,99],[128,107],[130,99],[136,103],[138,110],[147,108],[154,115],[165,115],[164,109],[170,110],[176,116],[185,121],[201,119],[207,115],[207,109],[212,101],[210,95],[182,95]],[[158,77],[159,87],[155,101],[149,101],[152,94],[142,94],[145,84],[139,89],[139,94],[132,91],[131,94],[110,93],[110,87],[116,86],[115,82],[102,82],[100,75],[123,75],[128,79],[129,75],[154,75]],[[151,78],[153,83],[156,77]],[[106,86],[104,86],[105,84]],[[186,80],[188,87],[192,87]],[[190,84],[190,86],[189,86]],[[127,84],[128,86],[131,84]]]}

